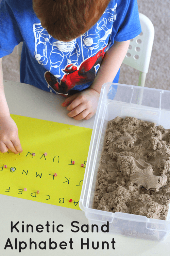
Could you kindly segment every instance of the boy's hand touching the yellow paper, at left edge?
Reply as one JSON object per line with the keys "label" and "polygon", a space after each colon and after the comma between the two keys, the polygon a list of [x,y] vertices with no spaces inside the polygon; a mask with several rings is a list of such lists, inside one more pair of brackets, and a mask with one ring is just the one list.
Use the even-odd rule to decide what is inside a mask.
{"label": "boy's hand touching the yellow paper, at left edge", "polygon": [[15,154],[22,152],[18,138],[18,128],[11,116],[0,117],[0,152],[11,150]]}

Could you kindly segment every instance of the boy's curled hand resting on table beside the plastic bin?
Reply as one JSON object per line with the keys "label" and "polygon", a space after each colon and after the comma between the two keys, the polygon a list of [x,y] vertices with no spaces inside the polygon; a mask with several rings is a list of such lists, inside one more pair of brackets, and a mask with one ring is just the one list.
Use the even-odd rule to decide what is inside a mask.
{"label": "boy's curled hand resting on table beside the plastic bin", "polygon": [[88,120],[97,111],[99,97],[100,94],[95,89],[87,88],[69,96],[62,106],[68,106],[69,117],[73,117],[75,120]]}

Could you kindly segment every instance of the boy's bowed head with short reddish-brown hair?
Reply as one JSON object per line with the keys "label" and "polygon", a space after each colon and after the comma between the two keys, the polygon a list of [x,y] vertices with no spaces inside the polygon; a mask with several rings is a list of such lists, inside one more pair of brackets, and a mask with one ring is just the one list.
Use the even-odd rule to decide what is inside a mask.
{"label": "boy's bowed head with short reddish-brown hair", "polygon": [[75,39],[94,26],[111,0],[32,0],[41,25],[60,41]]}

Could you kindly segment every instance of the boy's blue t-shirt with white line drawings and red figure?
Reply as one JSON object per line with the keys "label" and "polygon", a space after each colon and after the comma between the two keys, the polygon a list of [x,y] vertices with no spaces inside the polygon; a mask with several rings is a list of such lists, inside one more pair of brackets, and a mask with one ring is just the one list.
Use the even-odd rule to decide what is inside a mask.
{"label": "boy's blue t-shirt with white line drawings and red figure", "polygon": [[70,42],[54,39],[41,26],[32,0],[0,3],[0,58],[23,42],[20,82],[53,93],[71,95],[89,87],[114,41],[140,33],[137,0],[111,0],[98,22]]}

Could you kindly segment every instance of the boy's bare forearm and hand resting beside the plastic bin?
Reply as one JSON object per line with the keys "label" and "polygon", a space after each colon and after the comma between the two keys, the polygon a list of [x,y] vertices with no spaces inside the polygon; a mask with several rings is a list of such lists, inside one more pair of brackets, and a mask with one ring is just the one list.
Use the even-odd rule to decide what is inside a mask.
{"label": "boy's bare forearm and hand resting beside the plastic bin", "polygon": [[130,40],[115,41],[105,53],[92,85],[80,93],[69,96],[62,103],[62,106],[67,106],[67,110],[70,111],[69,117],[73,117],[75,120],[88,120],[96,113],[102,85],[113,82],[128,51],[129,43]]}

